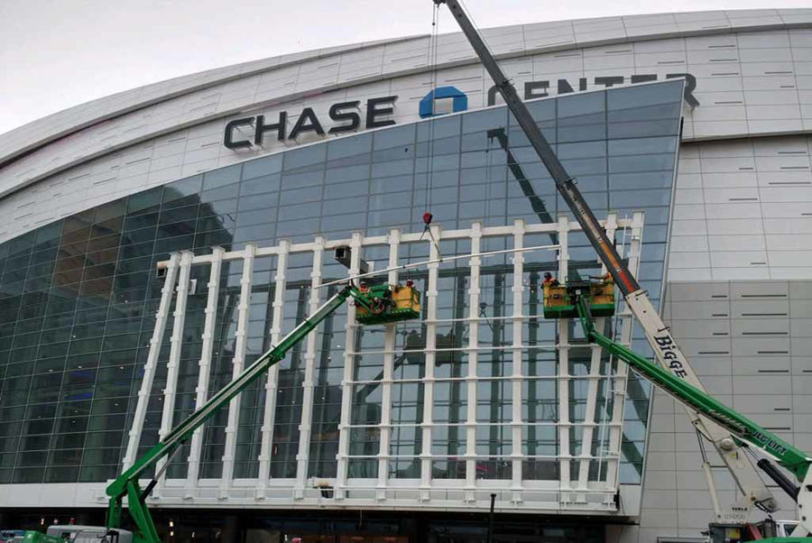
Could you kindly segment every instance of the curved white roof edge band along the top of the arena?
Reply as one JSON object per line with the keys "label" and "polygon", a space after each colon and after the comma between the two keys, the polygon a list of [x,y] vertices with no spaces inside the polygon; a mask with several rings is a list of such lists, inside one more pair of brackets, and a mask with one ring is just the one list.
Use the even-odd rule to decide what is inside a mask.
{"label": "curved white roof edge band along the top of the arena", "polygon": [[[711,26],[697,27],[698,14],[718,14],[720,22],[725,23]],[[767,15],[772,15],[768,17]],[[777,19],[776,19],[777,18]],[[670,20],[670,21],[669,21]],[[605,24],[621,23],[617,27],[618,32],[604,30],[601,27]],[[697,35],[724,34],[732,32],[752,32],[786,30],[789,28],[812,28],[812,8],[796,9],[750,9],[750,10],[724,10],[724,11],[699,11],[669,14],[641,14],[599,17],[589,19],[575,19],[567,21],[556,21],[546,23],[529,23],[507,25],[484,29],[484,34],[495,37],[503,34],[507,29],[527,27],[537,27],[543,29],[545,26],[566,27],[571,25],[572,41],[557,42],[538,47],[525,47],[518,51],[498,51],[498,45],[494,47],[496,57],[499,59],[509,59],[521,57],[528,54],[538,54],[553,51],[567,51],[572,49],[583,49],[599,45],[611,45],[613,43],[627,43],[634,41],[651,41],[669,38],[679,38]],[[670,29],[668,27],[671,27]],[[614,35],[613,35],[614,32]],[[445,34],[445,36],[461,35],[459,32]],[[81,131],[88,126],[97,124],[119,115],[132,113],[138,109],[154,106],[163,101],[181,97],[185,94],[202,90],[208,87],[215,87],[228,81],[244,78],[247,76],[270,72],[274,69],[281,69],[300,63],[305,60],[317,60],[337,56],[347,52],[363,51],[377,47],[386,47],[404,41],[428,40],[428,34],[393,38],[390,40],[364,41],[355,44],[329,47],[311,51],[291,53],[278,57],[270,57],[262,60],[251,60],[226,67],[208,69],[197,73],[180,76],[178,78],[167,79],[158,83],[152,83],[143,87],[135,87],[120,93],[115,93],[107,97],[97,98],[77,106],[71,106],[60,112],[47,115],[23,126],[0,134],[0,168],[21,156],[33,152],[42,146],[52,143],[71,133]],[[444,62],[438,64],[437,68],[449,66],[465,65],[478,62],[473,51],[466,59]],[[428,69],[428,64],[420,67],[418,71]],[[392,78],[402,75],[400,72],[386,74],[385,77]],[[381,76],[376,76],[380,78]],[[346,81],[352,85],[363,83],[364,80]],[[340,85],[340,83],[339,83]],[[341,85],[344,86],[344,85]],[[93,105],[94,107],[90,107]],[[86,116],[76,118],[79,112]],[[233,112],[224,112],[221,116],[232,115]]]}

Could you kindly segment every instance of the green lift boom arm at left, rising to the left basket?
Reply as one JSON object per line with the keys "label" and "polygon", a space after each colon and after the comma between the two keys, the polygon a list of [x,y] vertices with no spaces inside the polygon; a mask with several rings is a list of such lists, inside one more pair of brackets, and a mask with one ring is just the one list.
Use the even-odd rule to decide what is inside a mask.
{"label": "green lift boom arm at left, rising to the left basket", "polygon": [[[256,359],[254,364],[248,366],[234,381],[229,382],[222,390],[212,396],[200,409],[196,410],[184,420],[161,443],[153,446],[144,456],[135,461],[129,469],[119,475],[113,483],[107,486],[106,493],[110,496],[110,505],[107,511],[107,527],[118,528],[121,523],[122,501],[127,497],[127,508],[130,515],[138,527],[135,539],[138,542],[158,543],[157,530],[155,529],[150,513],[146,508],[146,498],[152,491],[152,487],[160,478],[156,474],[152,482],[142,491],[138,484],[139,477],[150,466],[165,456],[170,456],[180,451],[180,446],[191,437],[192,433],[200,428],[203,423],[211,419],[217,410],[224,407],[237,394],[245,390],[245,387],[256,381],[273,364],[280,362],[291,348],[304,339],[310,331],[318,324],[328,318],[337,308],[341,307],[346,299],[352,297],[358,305],[368,305],[367,301],[359,295],[354,286],[346,286],[328,299],[312,315],[300,322],[290,334],[285,336],[279,345],[275,345],[267,353]],[[166,465],[169,465],[167,462]]]}

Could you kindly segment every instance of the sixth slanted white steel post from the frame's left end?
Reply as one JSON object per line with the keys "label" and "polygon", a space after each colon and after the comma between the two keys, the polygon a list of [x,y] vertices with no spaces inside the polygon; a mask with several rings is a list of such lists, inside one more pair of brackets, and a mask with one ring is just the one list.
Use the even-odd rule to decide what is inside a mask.
{"label": "sixth slanted white steel post from the frame's left end", "polygon": [[[310,299],[308,315],[316,312],[319,306],[319,289],[321,284],[322,262],[324,261],[324,237],[318,236],[313,249],[313,268],[310,272]],[[299,452],[296,455],[296,487],[293,497],[296,500],[304,499],[305,484],[308,480],[308,462],[310,452],[310,435],[313,424],[313,397],[315,391],[316,374],[316,342],[318,328],[308,336],[305,350],[305,374],[302,386],[301,419],[299,424]]]}

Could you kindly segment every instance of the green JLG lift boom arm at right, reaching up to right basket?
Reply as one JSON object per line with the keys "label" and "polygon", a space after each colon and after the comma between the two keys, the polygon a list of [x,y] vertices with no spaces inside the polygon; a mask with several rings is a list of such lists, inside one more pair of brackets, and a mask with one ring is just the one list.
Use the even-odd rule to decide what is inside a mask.
{"label": "green JLG lift boom arm at right, reaching up to right basket", "polygon": [[[807,453],[789,445],[780,437],[762,428],[751,419],[744,417],[738,411],[727,407],[721,401],[706,394],[706,392],[700,391],[675,377],[648,358],[635,354],[623,345],[619,345],[612,339],[600,334],[595,330],[586,299],[578,297],[577,301],[578,318],[580,318],[581,326],[584,328],[584,334],[587,338],[632,366],[635,373],[645,377],[678,401],[693,410],[697,410],[708,419],[713,419],[718,425],[731,432],[734,437],[765,451],[775,458],[779,465],[794,474],[798,481],[803,482],[809,470],[809,465],[812,463],[812,458]],[[666,358],[668,358],[668,355],[666,355]],[[672,364],[681,363],[675,358]],[[672,369],[679,370],[679,368]]]}

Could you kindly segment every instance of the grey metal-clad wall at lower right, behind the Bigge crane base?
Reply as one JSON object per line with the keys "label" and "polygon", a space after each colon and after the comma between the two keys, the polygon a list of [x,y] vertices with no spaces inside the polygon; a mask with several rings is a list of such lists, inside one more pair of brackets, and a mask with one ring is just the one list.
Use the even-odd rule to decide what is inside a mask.
{"label": "grey metal-clad wall at lower right, behind the Bigge crane base", "polygon": [[[671,282],[663,309],[710,393],[809,450],[812,345],[807,343],[807,308],[812,308],[812,281],[770,280]],[[622,540],[699,538],[714,513],[696,432],[676,401],[660,391],[653,396],[649,428],[640,528],[628,530]],[[710,463],[718,465],[713,457]],[[715,469],[714,475],[723,505],[733,502],[729,474]],[[781,506],[774,516],[795,518],[795,504],[780,489],[773,490]]]}

